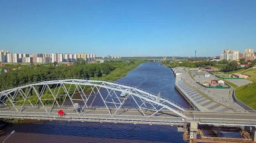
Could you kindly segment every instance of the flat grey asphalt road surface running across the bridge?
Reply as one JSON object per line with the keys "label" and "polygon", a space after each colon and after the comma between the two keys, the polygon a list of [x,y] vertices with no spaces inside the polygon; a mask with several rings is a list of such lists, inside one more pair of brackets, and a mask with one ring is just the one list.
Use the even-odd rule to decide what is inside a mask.
{"label": "flat grey asphalt road surface running across the bridge", "polygon": [[[20,109],[20,108],[18,108]],[[49,110],[49,109],[48,109]],[[58,111],[60,109],[52,109],[51,114],[54,115],[58,115]],[[72,115],[72,116],[87,116],[87,115],[110,115],[109,110],[107,109],[85,109],[81,115],[78,115],[76,112],[74,112],[74,109],[61,109],[63,110],[64,113],[66,113],[67,115]],[[116,110],[111,110],[111,114],[113,114],[114,112],[116,112]],[[151,111],[143,111],[145,113],[145,115],[149,116],[152,115],[154,112]],[[5,115],[5,114],[10,114],[10,113],[15,113],[15,115],[48,115],[47,112],[45,111],[45,109],[43,108],[26,108],[24,109],[21,113],[17,113],[17,110],[15,108],[9,108],[9,107],[5,107],[5,108],[0,108],[0,115]],[[254,113],[222,113],[222,112],[189,112],[189,111],[183,111],[180,112],[183,113],[184,115],[186,115],[189,118],[194,118],[194,114],[195,114],[195,118],[215,118],[215,119],[227,119],[227,120],[255,120],[256,121],[256,114]],[[141,111],[139,110],[129,110],[129,109],[125,109],[125,110],[120,110],[118,112],[116,112],[117,116],[138,116],[138,117],[143,117],[143,114]],[[168,119],[168,118],[178,118],[180,120],[180,117],[177,117],[177,115],[174,112],[170,112],[170,111],[163,111],[163,112],[159,112],[157,114],[154,115],[154,118],[164,118],[164,120]],[[144,117],[145,118],[145,117]]]}

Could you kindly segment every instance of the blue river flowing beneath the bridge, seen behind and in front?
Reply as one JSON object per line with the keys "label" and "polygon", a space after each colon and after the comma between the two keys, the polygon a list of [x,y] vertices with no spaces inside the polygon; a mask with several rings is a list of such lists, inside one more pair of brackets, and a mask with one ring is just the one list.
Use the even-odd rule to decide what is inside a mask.
{"label": "blue river flowing beneath the bridge, seen behind and in front", "polygon": [[[175,90],[175,76],[160,62],[140,64],[127,76],[116,80],[131,84],[175,101],[183,107],[189,104]],[[125,123],[67,122],[24,120],[6,126],[0,132],[0,143],[185,143],[177,126]]]}

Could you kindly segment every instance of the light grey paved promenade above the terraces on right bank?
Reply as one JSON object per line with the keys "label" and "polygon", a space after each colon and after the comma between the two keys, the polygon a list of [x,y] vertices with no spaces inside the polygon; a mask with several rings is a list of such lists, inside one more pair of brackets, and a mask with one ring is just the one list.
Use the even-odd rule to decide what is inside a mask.
{"label": "light grey paved promenade above the terraces on right bank", "polygon": [[[235,110],[236,112],[246,112],[246,110],[241,107],[239,104],[236,104],[235,102],[231,101],[228,97],[228,91],[231,90],[231,89],[217,89],[219,90],[218,92],[213,92],[205,87],[202,87],[201,85],[197,84],[190,76],[187,72],[185,72],[183,70],[182,67],[176,67],[174,68],[175,71],[177,71],[178,73],[182,73],[182,76],[181,78],[182,79],[185,79],[186,83],[189,84],[191,87],[194,87],[196,88],[197,90],[199,90],[201,93],[203,93],[204,95],[206,95],[207,97],[211,98],[213,101],[216,101],[218,102],[219,104],[224,104],[226,105],[227,107],[230,107],[232,108],[233,110]],[[189,93],[194,93],[196,92],[194,89],[192,89],[190,87],[185,87],[183,85],[183,88],[188,88],[189,90],[186,90],[186,93],[189,94]],[[224,92],[224,94],[221,94],[221,91]],[[194,93],[195,94],[195,93]],[[199,94],[199,93],[198,93]],[[199,96],[197,97],[199,99]],[[194,98],[192,98],[194,99]],[[199,103],[199,100],[195,98],[195,101]],[[205,100],[205,99],[201,99],[200,101],[204,103],[204,101],[202,100]],[[208,100],[208,99],[207,99]],[[207,101],[205,100],[205,101]],[[210,101],[210,100],[209,100]],[[211,105],[207,105],[207,104],[203,104],[204,106],[207,106],[207,109],[210,108],[211,110],[221,110],[221,107],[217,107],[218,105],[215,105],[217,103],[214,104],[207,101],[208,103],[207,104],[211,104]],[[199,103],[200,104],[200,103]],[[210,107],[209,107],[210,106]],[[212,109],[213,108],[213,109]],[[223,111],[224,112],[230,112],[230,111],[227,111],[227,109],[223,108]]]}

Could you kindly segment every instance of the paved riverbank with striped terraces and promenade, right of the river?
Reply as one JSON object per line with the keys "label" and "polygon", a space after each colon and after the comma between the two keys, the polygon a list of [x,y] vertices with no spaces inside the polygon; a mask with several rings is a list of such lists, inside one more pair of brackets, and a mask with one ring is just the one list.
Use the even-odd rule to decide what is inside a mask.
{"label": "paved riverbank with striped terraces and promenade, right of the river", "polygon": [[[237,108],[239,104],[233,103],[229,99],[216,93],[217,91],[221,92],[223,89],[206,89],[201,87],[201,85],[197,84],[181,67],[176,67],[174,69],[176,70],[176,73],[180,75],[179,79],[176,74],[176,79],[179,80],[176,85],[186,93],[185,96],[188,98],[190,97],[190,101],[194,101],[213,112],[244,112],[242,107]],[[186,82],[184,83],[181,79],[184,79]],[[198,93],[197,90],[200,91],[200,93]],[[223,102],[224,99],[226,102]]]}

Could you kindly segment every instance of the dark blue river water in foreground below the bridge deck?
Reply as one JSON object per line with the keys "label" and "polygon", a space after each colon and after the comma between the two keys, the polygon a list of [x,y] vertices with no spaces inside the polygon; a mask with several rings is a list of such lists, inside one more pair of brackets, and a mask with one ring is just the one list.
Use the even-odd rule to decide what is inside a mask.
{"label": "dark blue river water in foreground below the bridge deck", "polygon": [[[32,120],[30,120],[32,121]],[[79,121],[32,121],[29,123],[16,123],[12,126],[5,126],[2,128],[1,136],[9,135],[12,130],[15,134],[32,137],[33,134],[43,134],[54,137],[67,136],[64,142],[72,142],[71,139],[79,137],[79,142],[87,142],[88,138],[95,138],[95,140],[140,140],[141,142],[176,142],[184,143],[182,134],[177,132],[176,126],[167,125],[146,125],[146,124],[129,124],[129,123],[98,123],[98,122],[79,122]],[[15,135],[14,134],[14,135]],[[40,135],[39,135],[40,136]],[[44,137],[44,136],[43,136]],[[177,137],[177,138],[174,138]],[[15,142],[16,137],[13,137],[12,142]],[[26,137],[25,137],[26,138]],[[33,138],[33,137],[32,137]],[[33,139],[35,140],[35,139]],[[174,141],[177,140],[177,141]],[[11,141],[11,140],[10,140]],[[31,140],[32,141],[32,140]],[[31,142],[30,141],[30,142]],[[39,140],[38,140],[39,141]],[[17,141],[19,142],[19,141]],[[29,141],[28,141],[29,142]],[[116,142],[116,141],[115,141]],[[41,143],[40,141],[38,143]]]}

